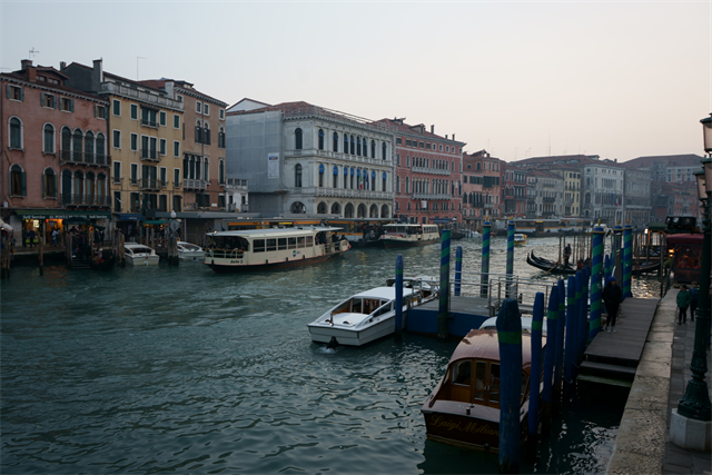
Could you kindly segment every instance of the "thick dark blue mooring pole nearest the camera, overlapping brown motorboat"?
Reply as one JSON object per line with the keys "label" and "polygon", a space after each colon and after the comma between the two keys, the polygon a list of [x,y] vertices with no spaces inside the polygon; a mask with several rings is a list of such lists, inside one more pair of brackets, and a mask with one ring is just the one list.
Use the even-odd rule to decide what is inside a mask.
{"label": "thick dark blue mooring pole nearest the camera, overlapping brown motorboat", "polygon": [[522,318],[514,298],[497,314],[500,342],[500,475],[520,474],[520,407],[522,397]]}

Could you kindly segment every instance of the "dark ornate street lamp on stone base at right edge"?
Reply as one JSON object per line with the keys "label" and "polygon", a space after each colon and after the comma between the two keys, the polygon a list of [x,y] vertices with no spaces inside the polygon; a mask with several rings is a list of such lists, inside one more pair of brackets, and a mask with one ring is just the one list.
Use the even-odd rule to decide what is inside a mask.
{"label": "dark ornate street lamp on stone base at right edge", "polygon": [[[704,130],[704,151],[712,156],[712,116],[701,120]],[[700,269],[700,297],[698,318],[694,327],[694,348],[692,350],[692,379],[688,383],[685,395],[678,404],[678,414],[696,420],[712,420],[712,404],[704,375],[708,372],[706,339],[710,328],[710,270],[712,268],[712,157],[702,160],[703,170],[695,171],[698,198],[704,206],[702,215],[702,268]]]}

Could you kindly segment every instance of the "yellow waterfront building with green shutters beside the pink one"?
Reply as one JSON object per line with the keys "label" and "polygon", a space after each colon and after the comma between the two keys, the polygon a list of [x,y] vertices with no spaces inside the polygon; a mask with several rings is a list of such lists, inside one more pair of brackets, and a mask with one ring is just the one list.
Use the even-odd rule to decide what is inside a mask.
{"label": "yellow waterfront building with green shutters beside the pink one", "polygon": [[103,71],[61,65],[71,87],[109,102],[111,190],[115,219],[136,222],[147,211],[182,210],[182,115],[172,81],[158,89]]}

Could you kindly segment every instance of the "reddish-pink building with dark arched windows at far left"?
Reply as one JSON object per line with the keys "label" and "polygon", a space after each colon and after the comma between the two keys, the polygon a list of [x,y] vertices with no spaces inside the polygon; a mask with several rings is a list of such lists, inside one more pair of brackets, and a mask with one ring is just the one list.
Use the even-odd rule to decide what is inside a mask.
{"label": "reddish-pink building with dark arched windows at far left", "polygon": [[108,101],[69,87],[66,73],[30,60],[1,73],[0,81],[1,216],[18,245],[22,228],[39,235],[40,221],[48,231],[61,230],[69,219],[106,225]]}

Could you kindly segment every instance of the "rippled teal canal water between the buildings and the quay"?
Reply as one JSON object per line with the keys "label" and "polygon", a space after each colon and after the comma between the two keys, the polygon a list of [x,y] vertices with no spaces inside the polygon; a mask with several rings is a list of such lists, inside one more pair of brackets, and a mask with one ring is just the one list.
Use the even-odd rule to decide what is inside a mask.
{"label": "rippled teal canal water between the buildings and the quay", "polygon": [[[453,243],[466,270],[479,269],[481,243]],[[526,264],[532,249],[555,257],[558,238],[515,250],[522,277],[543,274]],[[397,254],[407,276],[439,273],[439,245],[244,275],[14,268],[0,281],[0,472],[495,474],[496,455],[426,441],[419,408],[456,342],[309,339],[332,305],[393,277]],[[505,255],[494,238],[493,273]],[[656,283],[634,288],[652,296]],[[622,410],[564,405],[523,473],[604,473]]]}

